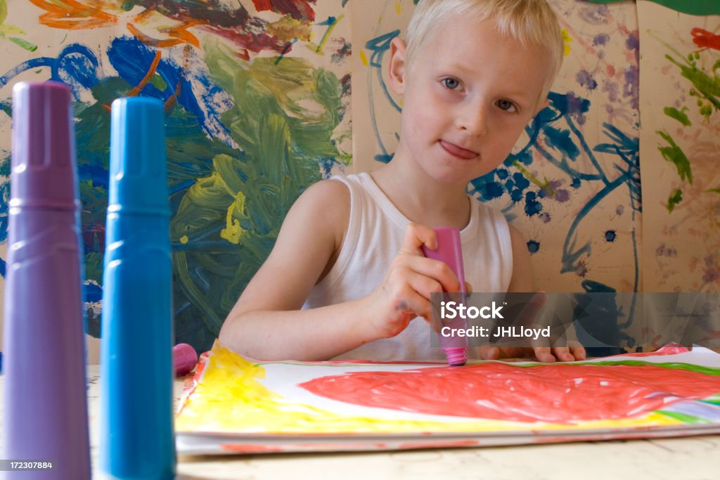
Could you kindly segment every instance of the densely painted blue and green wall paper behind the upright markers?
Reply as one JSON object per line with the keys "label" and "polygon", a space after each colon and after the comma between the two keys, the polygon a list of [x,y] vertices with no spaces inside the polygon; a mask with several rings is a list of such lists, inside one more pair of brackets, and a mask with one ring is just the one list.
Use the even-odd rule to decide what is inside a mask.
{"label": "densely painted blue and green wall paper behind the upright markers", "polygon": [[294,199],[350,161],[343,3],[0,0],[0,241],[12,86],[62,81],[76,100],[86,312],[98,337],[109,105],[161,99],[175,337],[210,348]]}

